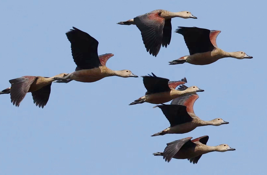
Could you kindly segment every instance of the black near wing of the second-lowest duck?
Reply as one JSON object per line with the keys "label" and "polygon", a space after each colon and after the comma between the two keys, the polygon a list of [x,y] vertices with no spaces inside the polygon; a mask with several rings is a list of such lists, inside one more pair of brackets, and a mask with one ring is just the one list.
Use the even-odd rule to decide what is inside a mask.
{"label": "black near wing of the second-lowest duck", "polygon": [[163,114],[166,116],[170,122],[171,127],[179,125],[186,122],[191,122],[193,119],[187,113],[186,106],[182,105],[159,105]]}

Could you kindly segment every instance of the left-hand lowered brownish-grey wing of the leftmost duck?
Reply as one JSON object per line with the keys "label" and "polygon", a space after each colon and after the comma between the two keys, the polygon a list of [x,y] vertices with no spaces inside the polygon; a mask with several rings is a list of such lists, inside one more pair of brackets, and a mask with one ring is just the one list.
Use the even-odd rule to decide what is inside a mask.
{"label": "left-hand lowered brownish-grey wing of the leftmost duck", "polygon": [[19,106],[25,95],[30,89],[30,85],[35,81],[37,77],[23,76],[20,78],[9,80],[11,83],[10,98],[11,103],[15,106]]}

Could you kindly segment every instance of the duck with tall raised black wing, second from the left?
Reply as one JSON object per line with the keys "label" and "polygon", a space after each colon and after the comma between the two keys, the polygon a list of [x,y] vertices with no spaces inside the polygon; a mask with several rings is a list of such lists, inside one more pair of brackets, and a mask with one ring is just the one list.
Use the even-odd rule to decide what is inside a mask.
{"label": "duck with tall raised black wing, second from the left", "polygon": [[55,82],[67,83],[71,80],[81,82],[94,82],[104,77],[138,77],[131,73],[130,70],[111,70],[106,67],[107,60],[114,56],[107,53],[98,56],[98,41],[86,32],[75,27],[66,33],[68,40],[71,42],[71,52],[77,67],[75,72],[69,73],[62,77],[55,77]]}

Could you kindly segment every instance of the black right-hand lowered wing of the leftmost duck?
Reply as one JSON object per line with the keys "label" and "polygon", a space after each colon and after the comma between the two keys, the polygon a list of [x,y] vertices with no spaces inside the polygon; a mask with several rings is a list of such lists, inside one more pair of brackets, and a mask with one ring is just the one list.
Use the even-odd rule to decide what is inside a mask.
{"label": "black right-hand lowered wing of the leftmost duck", "polygon": [[42,108],[46,106],[51,92],[51,85],[52,83],[37,91],[31,92],[33,103],[35,103],[36,106],[42,106]]}

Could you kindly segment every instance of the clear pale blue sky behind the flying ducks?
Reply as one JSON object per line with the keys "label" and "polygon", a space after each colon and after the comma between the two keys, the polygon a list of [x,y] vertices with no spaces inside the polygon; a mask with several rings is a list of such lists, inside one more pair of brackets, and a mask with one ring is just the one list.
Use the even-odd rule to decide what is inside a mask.
{"label": "clear pale blue sky behind the flying ducks", "polygon": [[[155,58],[146,52],[136,26],[119,21],[156,9],[188,10],[198,19],[172,19],[177,26],[221,30],[218,47],[244,51],[253,59],[224,58],[211,65],[168,61],[188,55],[183,36],[172,33]],[[0,174],[264,174],[266,166],[266,9],[262,1],[3,1],[0,90],[25,75],[71,73],[76,65],[65,33],[72,26],[99,41],[99,55],[113,53],[107,66],[138,76],[155,73],[171,81],[186,77],[198,93],[194,110],[203,120],[230,122],[186,134],[150,137],[169,127],[153,104],[128,104],[144,95],[142,78],[107,77],[94,83],[53,83],[40,109],[27,94],[19,107],[0,96]],[[212,152],[198,164],[153,152],[181,138],[209,135],[208,145],[236,151]]]}

